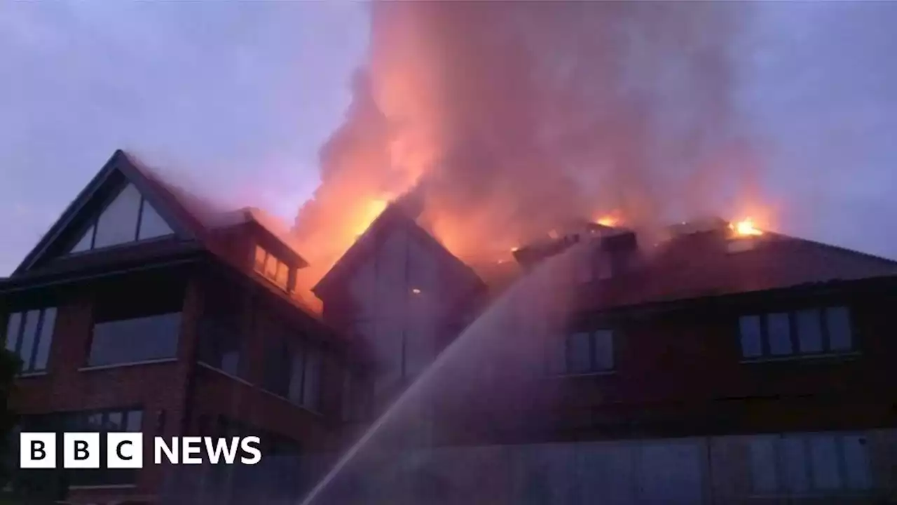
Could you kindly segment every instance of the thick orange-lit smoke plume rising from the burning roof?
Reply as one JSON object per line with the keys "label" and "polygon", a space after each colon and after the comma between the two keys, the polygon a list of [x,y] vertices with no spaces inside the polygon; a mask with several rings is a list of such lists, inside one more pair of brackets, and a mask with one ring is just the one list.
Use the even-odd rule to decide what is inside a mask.
{"label": "thick orange-lit smoke plume rising from the burning roof", "polygon": [[462,258],[611,211],[632,226],[718,212],[755,167],[731,58],[747,8],[372,4],[369,61],[297,218],[303,253],[324,273],[372,201],[408,191]]}

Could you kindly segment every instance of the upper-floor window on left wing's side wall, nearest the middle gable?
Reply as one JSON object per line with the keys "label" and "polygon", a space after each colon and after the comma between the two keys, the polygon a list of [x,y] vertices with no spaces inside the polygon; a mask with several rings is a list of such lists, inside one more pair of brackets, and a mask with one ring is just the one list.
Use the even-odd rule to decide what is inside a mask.
{"label": "upper-floor window on left wing's side wall, nearest the middle gable", "polygon": [[286,328],[275,326],[272,333],[265,360],[265,389],[318,411],[322,351],[309,342],[293,341]]}

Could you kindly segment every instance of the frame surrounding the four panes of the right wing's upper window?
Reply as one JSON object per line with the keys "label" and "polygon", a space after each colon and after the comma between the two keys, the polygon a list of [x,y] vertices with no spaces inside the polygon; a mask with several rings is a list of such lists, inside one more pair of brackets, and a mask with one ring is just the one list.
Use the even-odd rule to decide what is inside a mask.
{"label": "frame surrounding the four panes of the right wing's upper window", "polygon": [[[835,311],[844,311],[847,318],[847,330],[849,332],[849,347],[846,349],[832,348],[832,324],[830,314]],[[815,312],[817,321],[816,330],[819,332],[820,350],[804,351],[801,340],[801,314]],[[776,354],[772,351],[770,317],[773,315],[786,315],[788,318],[788,343],[790,352]],[[743,322],[750,318],[759,321],[760,355],[745,355],[745,333]],[[854,323],[853,310],[849,305],[821,304],[818,306],[799,306],[787,310],[757,311],[749,314],[738,315],[735,323],[737,345],[742,362],[779,361],[791,359],[814,359],[838,356],[850,356],[858,354],[857,328]]]}

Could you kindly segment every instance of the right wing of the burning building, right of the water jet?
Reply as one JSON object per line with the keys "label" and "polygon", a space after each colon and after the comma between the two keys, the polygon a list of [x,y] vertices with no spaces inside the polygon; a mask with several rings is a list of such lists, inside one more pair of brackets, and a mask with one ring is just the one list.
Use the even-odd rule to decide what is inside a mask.
{"label": "right wing of the burning building, right of the water jet", "polygon": [[[431,446],[369,442],[320,502],[893,496],[897,262],[739,234],[722,220],[668,235],[639,244],[629,230],[586,226],[515,251],[529,277],[567,256],[527,293],[482,312],[501,313],[489,326],[500,336],[472,327],[464,338],[483,343],[440,367],[448,380],[419,400],[441,409]],[[493,310],[505,297],[509,308]],[[563,314],[536,329],[558,306]]]}

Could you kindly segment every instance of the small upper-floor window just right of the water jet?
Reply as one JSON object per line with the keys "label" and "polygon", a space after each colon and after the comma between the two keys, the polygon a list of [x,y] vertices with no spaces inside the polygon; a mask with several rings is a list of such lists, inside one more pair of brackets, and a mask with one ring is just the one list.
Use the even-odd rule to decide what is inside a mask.
{"label": "small upper-floor window just right of the water jet", "polygon": [[551,371],[560,374],[593,374],[614,369],[614,332],[574,332],[562,349],[553,353]]}

